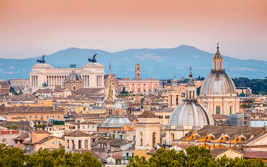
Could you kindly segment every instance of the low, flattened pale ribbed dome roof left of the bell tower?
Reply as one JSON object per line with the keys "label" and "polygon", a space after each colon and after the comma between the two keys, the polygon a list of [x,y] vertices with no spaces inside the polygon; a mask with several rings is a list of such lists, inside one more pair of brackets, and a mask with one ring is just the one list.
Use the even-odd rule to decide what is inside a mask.
{"label": "low, flattened pale ribbed dome roof left of the bell tower", "polygon": [[109,117],[99,127],[122,127],[122,126],[133,126],[130,120],[124,116],[113,116]]}

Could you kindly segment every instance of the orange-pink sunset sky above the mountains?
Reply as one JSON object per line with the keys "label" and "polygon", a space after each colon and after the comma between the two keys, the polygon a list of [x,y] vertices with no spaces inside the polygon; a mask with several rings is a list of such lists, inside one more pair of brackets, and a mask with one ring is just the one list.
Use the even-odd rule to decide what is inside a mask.
{"label": "orange-pink sunset sky above the mountains", "polygon": [[0,0],[0,58],[195,46],[267,61],[266,0]]}

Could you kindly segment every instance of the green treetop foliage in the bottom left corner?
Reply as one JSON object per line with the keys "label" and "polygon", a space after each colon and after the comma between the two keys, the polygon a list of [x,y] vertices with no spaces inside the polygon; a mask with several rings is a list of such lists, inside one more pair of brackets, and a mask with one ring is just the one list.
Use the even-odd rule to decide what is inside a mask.
{"label": "green treetop foliage in the bottom left corner", "polygon": [[25,155],[24,150],[17,147],[6,147],[5,144],[0,144],[0,166],[22,167],[101,167],[100,162],[96,157],[92,156],[91,152],[72,153],[66,152],[65,149],[54,149],[52,152],[44,149],[39,150],[33,155]]}

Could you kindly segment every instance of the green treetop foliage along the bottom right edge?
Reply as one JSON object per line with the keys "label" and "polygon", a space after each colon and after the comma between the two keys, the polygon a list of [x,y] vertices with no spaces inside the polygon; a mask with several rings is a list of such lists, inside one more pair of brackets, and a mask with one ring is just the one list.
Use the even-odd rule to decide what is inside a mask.
{"label": "green treetop foliage along the bottom right edge", "polygon": [[238,166],[265,166],[261,159],[244,159],[244,158],[227,158],[226,155],[221,158],[214,158],[210,149],[204,147],[188,147],[186,153],[181,151],[166,150],[160,148],[147,161],[144,156],[136,155],[129,159],[127,167],[174,167],[174,166],[188,166],[188,167],[238,167]]}

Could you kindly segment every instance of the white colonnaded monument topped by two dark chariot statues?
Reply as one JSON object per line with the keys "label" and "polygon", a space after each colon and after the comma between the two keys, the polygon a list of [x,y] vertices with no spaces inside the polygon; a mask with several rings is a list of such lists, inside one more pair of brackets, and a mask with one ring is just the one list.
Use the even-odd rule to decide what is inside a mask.
{"label": "white colonnaded monument topped by two dark chariot statues", "polygon": [[[104,88],[104,65],[100,63],[87,63],[82,68],[75,68],[75,72],[81,76],[84,88]],[[29,90],[42,89],[44,83],[47,88],[64,87],[64,80],[72,73],[73,68],[55,68],[46,63],[34,65],[30,75]]]}

